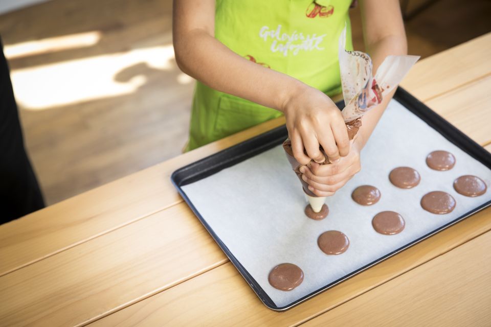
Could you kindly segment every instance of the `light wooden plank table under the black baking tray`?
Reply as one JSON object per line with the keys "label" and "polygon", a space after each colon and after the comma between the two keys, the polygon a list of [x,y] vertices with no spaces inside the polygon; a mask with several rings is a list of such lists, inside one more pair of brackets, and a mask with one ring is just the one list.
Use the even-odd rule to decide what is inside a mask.
{"label": "light wooden plank table under the black baking tray", "polygon": [[[491,33],[402,84],[491,150]],[[284,313],[264,307],[170,182],[266,122],[0,226],[0,325],[491,325],[491,209]],[[363,165],[363,163],[362,163]]]}

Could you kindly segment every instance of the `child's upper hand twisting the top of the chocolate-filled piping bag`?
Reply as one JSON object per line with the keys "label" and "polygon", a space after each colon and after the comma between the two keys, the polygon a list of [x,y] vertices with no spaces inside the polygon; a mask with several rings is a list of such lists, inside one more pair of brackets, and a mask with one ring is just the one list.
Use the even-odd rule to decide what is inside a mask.
{"label": "child's upper hand twisting the top of the chocolate-filled piping bag", "polygon": [[349,139],[343,116],[323,92],[304,86],[285,101],[283,112],[293,155],[300,164],[307,165],[311,160],[324,162],[319,145],[330,162],[348,155]]}

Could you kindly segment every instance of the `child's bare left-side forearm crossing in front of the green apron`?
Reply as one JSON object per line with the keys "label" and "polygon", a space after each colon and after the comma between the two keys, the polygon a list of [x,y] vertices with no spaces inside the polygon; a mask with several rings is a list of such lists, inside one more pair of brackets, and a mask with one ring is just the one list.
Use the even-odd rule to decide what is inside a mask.
{"label": "child's bare left-side forearm crossing in front of the green apron", "polygon": [[306,87],[295,78],[237,55],[204,30],[175,35],[174,39],[182,71],[218,91],[283,111],[288,97]]}

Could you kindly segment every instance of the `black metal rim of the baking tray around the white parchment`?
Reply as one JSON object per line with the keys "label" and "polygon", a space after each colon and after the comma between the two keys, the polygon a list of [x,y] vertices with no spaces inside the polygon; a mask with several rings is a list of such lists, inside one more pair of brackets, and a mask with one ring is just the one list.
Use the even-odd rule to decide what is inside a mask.
{"label": "black metal rim of the baking tray around the white parchment", "polygon": [[[397,100],[400,104],[404,105],[408,110],[418,116],[421,120],[425,121],[429,126],[438,131],[443,137],[447,138],[448,141],[455,144],[461,150],[471,155],[476,160],[480,161],[487,168],[491,169],[491,153],[483,149],[479,144],[474,142],[467,135],[462,133],[460,130],[455,128],[452,124],[445,121],[438,115],[436,112],[428,108],[425,104],[421,103],[419,100],[414,98],[409,92],[404,90],[403,88],[398,88],[395,92],[394,99]],[[343,107],[343,103],[336,104],[340,109]],[[249,272],[240,264],[240,262],[235,258],[232,252],[227,248],[227,246],[220,240],[220,238],[216,235],[213,229],[208,225],[208,223],[203,219],[197,209],[194,207],[191,200],[187,197],[186,193],[181,189],[181,186],[193,183],[200,179],[206,178],[210,175],[213,175],[222,169],[234,166],[239,162],[251,158],[261,152],[269,150],[277,145],[283,143],[286,139],[288,133],[286,130],[286,126],[280,126],[260,135],[257,135],[253,138],[250,138],[244,142],[241,142],[235,146],[224,149],[218,153],[210,155],[206,158],[193,162],[190,165],[182,167],[174,171],[171,175],[172,183],[174,184],[177,191],[181,194],[184,200],[188,203],[189,207],[192,209],[196,217],[199,221],[205,226],[213,239],[218,243],[220,248],[225,252],[230,261],[234,264],[240,274],[244,277],[245,281],[251,286],[251,288],[256,292],[257,296],[261,299],[264,305],[275,311],[285,311],[290,309],[300,302],[307,300],[310,297],[313,297],[334,285],[337,285],[348,278],[376,265],[394,254],[403,251],[416,243],[421,242],[434,235],[435,233],[471,216],[472,214],[482,210],[483,208],[491,205],[491,201],[488,201],[476,208],[472,211],[467,212],[466,214],[460,216],[459,218],[431,231],[425,236],[420,237],[419,239],[414,240],[413,242],[396,249],[393,252],[390,252],[383,256],[382,258],[377,259],[376,261],[371,262],[370,264],[351,272],[350,274],[334,281],[308,295],[303,296],[297,301],[290,303],[284,307],[277,307],[273,300],[266,294],[266,292],[259,286],[259,284],[255,281],[255,279],[249,274]],[[285,159],[286,160],[286,159]]]}

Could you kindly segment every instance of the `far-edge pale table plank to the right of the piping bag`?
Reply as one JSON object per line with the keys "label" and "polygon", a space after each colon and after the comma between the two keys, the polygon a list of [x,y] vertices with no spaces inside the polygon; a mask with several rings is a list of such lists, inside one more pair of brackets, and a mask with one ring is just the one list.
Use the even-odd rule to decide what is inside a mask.
{"label": "far-edge pale table plank to the right of the piping bag", "polygon": [[491,33],[421,60],[400,84],[427,101],[491,74]]}

